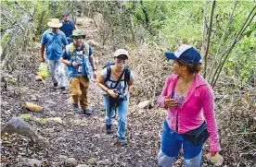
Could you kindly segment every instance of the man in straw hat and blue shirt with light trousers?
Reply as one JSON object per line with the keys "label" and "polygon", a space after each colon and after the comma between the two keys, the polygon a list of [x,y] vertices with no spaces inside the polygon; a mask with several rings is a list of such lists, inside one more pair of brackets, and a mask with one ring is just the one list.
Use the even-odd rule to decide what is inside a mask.
{"label": "man in straw hat and blue shirt with light trousers", "polygon": [[58,78],[57,69],[60,77],[60,89],[63,93],[66,91],[66,77],[64,72],[64,65],[60,62],[60,57],[63,53],[62,46],[68,45],[67,38],[65,34],[59,30],[62,23],[59,23],[58,18],[52,18],[51,21],[47,23],[50,27],[49,30],[45,30],[41,39],[41,62],[45,62],[45,48],[46,48],[46,58],[48,60],[48,66],[52,75],[54,82],[54,89],[58,88]]}

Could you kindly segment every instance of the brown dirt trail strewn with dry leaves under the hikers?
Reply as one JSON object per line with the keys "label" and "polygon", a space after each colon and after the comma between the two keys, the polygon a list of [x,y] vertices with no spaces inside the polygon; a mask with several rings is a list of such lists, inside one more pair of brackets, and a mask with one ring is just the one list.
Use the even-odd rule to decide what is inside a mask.
{"label": "brown dirt trail strewn with dry leaves under the hikers", "polygon": [[[86,40],[97,42],[98,36],[93,22],[88,18],[80,18],[79,21],[82,22],[79,29],[86,31]],[[97,64],[108,61],[103,58],[106,50],[100,47],[93,47],[93,50]],[[39,51],[39,48],[36,48],[35,52],[26,53],[35,57],[29,59],[30,64],[26,63],[28,60],[18,61],[20,66],[9,74],[9,78],[13,78],[15,82],[7,83],[7,89],[2,89],[1,126],[11,117],[24,113],[20,110],[21,104],[32,100],[43,106],[44,112],[30,113],[31,115],[40,118],[60,117],[63,125],[30,121],[40,135],[49,139],[50,149],[41,149],[25,137],[3,137],[1,154],[5,162],[1,166],[28,166],[24,158],[39,160],[43,166],[69,166],[66,163],[67,158],[74,158],[78,163],[88,166],[157,166],[159,133],[164,118],[162,113],[147,109],[137,110],[132,102],[126,133],[129,144],[122,148],[115,144],[116,121],[115,133],[105,133],[103,100],[96,81],[92,80],[89,87],[89,102],[94,113],[91,116],[73,113],[70,94],[63,95],[59,90],[54,91],[50,78],[45,80],[45,83],[34,80],[39,60],[36,51]],[[100,70],[98,67],[98,72]]]}

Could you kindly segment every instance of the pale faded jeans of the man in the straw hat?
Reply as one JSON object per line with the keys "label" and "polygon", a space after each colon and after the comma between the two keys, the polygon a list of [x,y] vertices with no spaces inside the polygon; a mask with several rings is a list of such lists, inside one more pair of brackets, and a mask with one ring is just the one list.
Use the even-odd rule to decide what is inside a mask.
{"label": "pale faded jeans of the man in the straw hat", "polygon": [[48,66],[52,75],[52,79],[54,83],[58,83],[57,78],[57,69],[60,78],[60,86],[66,87],[66,75],[64,71],[64,64],[60,62],[60,60],[48,60]]}

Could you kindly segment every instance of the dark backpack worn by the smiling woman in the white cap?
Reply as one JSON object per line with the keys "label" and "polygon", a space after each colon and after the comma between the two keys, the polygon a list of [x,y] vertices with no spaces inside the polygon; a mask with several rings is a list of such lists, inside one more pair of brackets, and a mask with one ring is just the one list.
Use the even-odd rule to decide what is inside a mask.
{"label": "dark backpack worn by the smiling woman in the white cap", "polygon": [[[109,80],[111,76],[110,66],[113,66],[113,65],[115,65],[115,62],[109,62],[106,66],[103,67],[103,68],[107,67],[107,78],[105,78],[105,81],[103,82],[104,84]],[[125,66],[123,70],[125,70],[125,73],[124,73],[124,89],[125,89],[130,82],[131,70],[129,66]]]}

